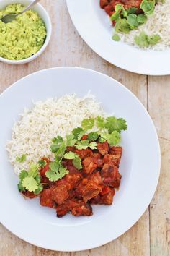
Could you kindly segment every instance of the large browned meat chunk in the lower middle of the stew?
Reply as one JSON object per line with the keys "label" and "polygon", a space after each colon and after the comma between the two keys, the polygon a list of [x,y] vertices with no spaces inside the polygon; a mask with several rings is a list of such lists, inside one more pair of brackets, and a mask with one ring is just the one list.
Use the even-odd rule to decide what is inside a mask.
{"label": "large browned meat chunk in the lower middle of the stew", "polygon": [[77,188],[77,193],[83,197],[84,202],[87,202],[100,192],[102,192],[102,185],[97,184],[91,179],[83,179]]}

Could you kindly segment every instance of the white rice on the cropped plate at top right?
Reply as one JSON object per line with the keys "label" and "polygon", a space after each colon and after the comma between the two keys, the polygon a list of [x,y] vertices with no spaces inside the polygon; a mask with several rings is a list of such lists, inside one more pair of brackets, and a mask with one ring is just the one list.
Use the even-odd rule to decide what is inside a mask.
{"label": "white rice on the cropped plate at top right", "polygon": [[152,46],[152,49],[162,51],[170,46],[170,0],[156,4],[153,14],[148,15],[147,22],[139,26],[138,30],[132,30],[128,34],[119,33],[119,35],[125,43],[136,46],[134,38],[142,31],[147,35],[158,34],[161,36],[160,42],[156,46]]}

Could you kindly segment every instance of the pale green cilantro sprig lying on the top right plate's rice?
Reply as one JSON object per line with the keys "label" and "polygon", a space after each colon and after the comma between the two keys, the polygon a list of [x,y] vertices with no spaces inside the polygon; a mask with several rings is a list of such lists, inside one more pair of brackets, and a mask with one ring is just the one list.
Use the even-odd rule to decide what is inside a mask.
{"label": "pale green cilantro sprig lying on the top right plate's rice", "polygon": [[161,40],[160,35],[147,35],[144,31],[142,31],[139,35],[136,35],[135,43],[143,48],[147,48],[149,46],[154,46]]}

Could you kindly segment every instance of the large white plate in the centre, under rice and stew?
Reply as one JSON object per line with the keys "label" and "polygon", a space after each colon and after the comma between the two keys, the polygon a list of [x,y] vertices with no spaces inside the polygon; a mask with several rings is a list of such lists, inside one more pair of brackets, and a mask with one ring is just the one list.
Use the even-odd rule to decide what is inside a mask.
{"label": "large white plate in the centre, under rice and stew", "polygon": [[[91,217],[55,217],[38,199],[24,200],[17,176],[4,150],[14,119],[34,101],[91,90],[108,114],[128,122],[122,133],[122,182],[111,206],[98,205]],[[0,96],[0,221],[31,244],[58,251],[79,251],[112,241],[130,229],[151,202],[158,183],[160,150],[156,129],[138,98],[119,82],[99,72],[74,67],[46,69],[22,78]]]}

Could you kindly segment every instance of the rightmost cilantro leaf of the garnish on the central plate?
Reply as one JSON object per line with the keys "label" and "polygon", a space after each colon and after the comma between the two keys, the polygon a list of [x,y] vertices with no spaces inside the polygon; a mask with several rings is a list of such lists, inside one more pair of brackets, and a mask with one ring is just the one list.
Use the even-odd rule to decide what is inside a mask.
{"label": "rightmost cilantro leaf of the garnish on the central plate", "polygon": [[109,133],[113,131],[121,132],[121,130],[127,129],[127,124],[125,119],[109,116],[106,119],[105,128],[108,129]]}

